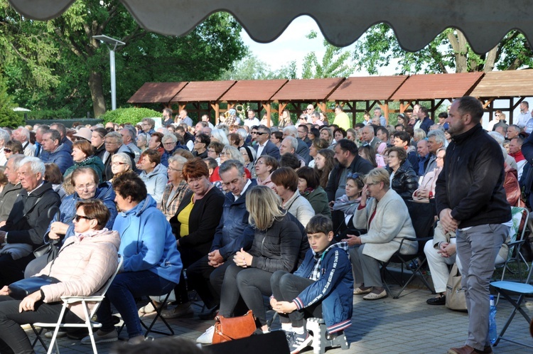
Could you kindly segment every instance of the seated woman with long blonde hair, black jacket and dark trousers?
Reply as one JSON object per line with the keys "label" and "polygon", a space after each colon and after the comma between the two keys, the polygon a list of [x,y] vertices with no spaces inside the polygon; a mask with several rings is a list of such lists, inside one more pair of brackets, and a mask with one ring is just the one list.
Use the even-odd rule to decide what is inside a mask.
{"label": "seated woman with long blonde hair, black jacket and dark trousers", "polygon": [[[227,267],[220,295],[219,315],[239,316],[235,307],[239,298],[252,310],[261,326],[268,331],[263,295],[270,296],[270,278],[277,270],[294,272],[308,249],[305,230],[296,219],[280,208],[279,198],[266,186],[247,192],[246,209],[255,235],[249,252],[240,250]],[[229,261],[228,261],[229,262]],[[212,340],[213,328],[203,338]],[[200,340],[200,338],[198,338]],[[205,341],[202,341],[205,343]]]}

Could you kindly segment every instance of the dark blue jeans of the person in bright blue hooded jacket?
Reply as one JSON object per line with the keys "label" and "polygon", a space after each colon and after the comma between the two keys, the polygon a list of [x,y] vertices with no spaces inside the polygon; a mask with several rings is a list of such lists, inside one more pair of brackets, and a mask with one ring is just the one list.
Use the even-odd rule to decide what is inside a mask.
{"label": "dark blue jeans of the person in bright blue hooded jacket", "polygon": [[168,294],[174,286],[176,283],[163,279],[149,270],[117,274],[97,311],[98,321],[102,323],[102,331],[114,330],[111,318],[111,304],[113,304],[126,324],[129,338],[143,334],[135,298]]}

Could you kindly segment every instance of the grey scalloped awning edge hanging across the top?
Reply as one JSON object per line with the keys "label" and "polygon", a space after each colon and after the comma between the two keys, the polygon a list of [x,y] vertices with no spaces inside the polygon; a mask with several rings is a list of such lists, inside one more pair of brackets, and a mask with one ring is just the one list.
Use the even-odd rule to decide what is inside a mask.
{"label": "grey scalloped awning edge hanging across the top", "polygon": [[[75,0],[9,0],[28,18],[48,20]],[[254,41],[274,41],[294,18],[315,19],[325,38],[350,45],[375,23],[389,23],[402,48],[424,48],[438,33],[453,27],[465,33],[473,50],[486,53],[512,29],[533,38],[530,0],[121,0],[148,31],[182,36],[210,14],[227,11]]]}

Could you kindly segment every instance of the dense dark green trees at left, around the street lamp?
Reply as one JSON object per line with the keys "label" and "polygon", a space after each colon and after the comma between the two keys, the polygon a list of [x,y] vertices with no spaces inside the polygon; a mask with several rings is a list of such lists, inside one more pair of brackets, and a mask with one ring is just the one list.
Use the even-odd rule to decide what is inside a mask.
{"label": "dense dark green trees at left, around the street lamp", "polygon": [[0,55],[9,58],[0,72],[16,102],[32,110],[68,108],[78,117],[105,112],[109,51],[92,36],[126,43],[115,54],[119,106],[144,82],[216,80],[247,53],[241,26],[225,13],[176,37],[144,31],[118,0],[78,0],[47,22],[22,18],[6,0],[0,11]]}

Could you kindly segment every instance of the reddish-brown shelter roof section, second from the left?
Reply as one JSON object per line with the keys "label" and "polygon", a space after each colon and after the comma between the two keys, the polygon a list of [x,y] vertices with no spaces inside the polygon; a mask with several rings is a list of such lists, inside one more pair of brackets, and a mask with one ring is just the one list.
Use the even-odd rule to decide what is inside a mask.
{"label": "reddish-brown shelter roof section, second from the left", "polygon": [[235,80],[192,81],[169,102],[215,102],[235,85]]}

